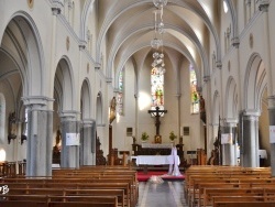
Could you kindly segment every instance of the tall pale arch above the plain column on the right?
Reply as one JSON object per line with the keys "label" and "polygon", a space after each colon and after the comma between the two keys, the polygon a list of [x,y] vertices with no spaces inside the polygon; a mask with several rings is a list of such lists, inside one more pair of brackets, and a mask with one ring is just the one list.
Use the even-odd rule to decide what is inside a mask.
{"label": "tall pale arch above the plain column on the right", "polygon": [[244,78],[244,108],[246,110],[260,110],[261,97],[266,87],[266,70],[261,56],[257,53],[251,55]]}

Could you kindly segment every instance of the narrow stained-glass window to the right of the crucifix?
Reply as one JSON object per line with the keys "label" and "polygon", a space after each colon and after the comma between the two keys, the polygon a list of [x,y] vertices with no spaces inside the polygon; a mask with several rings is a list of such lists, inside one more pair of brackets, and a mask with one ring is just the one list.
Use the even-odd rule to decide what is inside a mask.
{"label": "narrow stained-glass window to the right of the crucifix", "polygon": [[190,70],[191,113],[198,113],[199,94],[197,91],[197,76],[193,65],[190,65],[189,70]]}

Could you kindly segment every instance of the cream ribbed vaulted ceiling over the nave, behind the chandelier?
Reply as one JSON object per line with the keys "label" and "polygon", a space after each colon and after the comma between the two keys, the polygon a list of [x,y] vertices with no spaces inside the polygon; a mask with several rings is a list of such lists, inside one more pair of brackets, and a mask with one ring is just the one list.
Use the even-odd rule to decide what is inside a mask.
{"label": "cream ribbed vaulted ceiling over the nave, behind the chandelier", "polygon": [[[199,83],[209,73],[208,62],[212,52],[220,61],[218,17],[222,2],[168,0],[164,6],[164,53],[168,58],[188,59],[197,70]],[[97,50],[100,51],[102,42],[108,40],[107,76],[111,78],[128,59],[140,63],[152,56],[154,11],[157,8],[153,0],[100,0],[98,3],[100,31]]]}

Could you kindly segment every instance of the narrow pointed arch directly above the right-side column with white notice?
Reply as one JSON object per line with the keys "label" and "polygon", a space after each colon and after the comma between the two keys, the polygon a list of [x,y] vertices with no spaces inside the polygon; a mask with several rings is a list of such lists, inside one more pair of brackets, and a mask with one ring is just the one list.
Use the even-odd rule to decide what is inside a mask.
{"label": "narrow pointed arch directly above the right-side column with white notice", "polygon": [[238,119],[238,89],[232,76],[228,78],[224,100],[227,100],[224,102],[224,118]]}

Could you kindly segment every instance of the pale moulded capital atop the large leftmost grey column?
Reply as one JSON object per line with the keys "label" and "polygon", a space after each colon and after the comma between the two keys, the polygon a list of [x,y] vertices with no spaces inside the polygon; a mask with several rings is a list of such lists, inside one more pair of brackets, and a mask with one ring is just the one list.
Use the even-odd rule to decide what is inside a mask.
{"label": "pale moulded capital atop the large leftmost grey column", "polygon": [[45,96],[29,96],[21,98],[24,102],[24,106],[31,110],[52,110],[53,108],[53,98]]}

